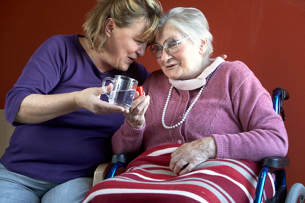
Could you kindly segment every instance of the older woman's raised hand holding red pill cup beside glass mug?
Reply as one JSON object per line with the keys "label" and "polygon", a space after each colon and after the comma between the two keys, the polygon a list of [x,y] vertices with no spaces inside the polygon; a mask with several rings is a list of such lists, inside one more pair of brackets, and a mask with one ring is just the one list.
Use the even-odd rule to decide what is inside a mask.
{"label": "older woman's raised hand holding red pill cup beside glass mug", "polygon": [[[136,92],[135,98],[139,95]],[[133,128],[142,128],[145,123],[145,112],[149,106],[150,97],[141,95],[132,101],[129,113],[123,113],[128,124]]]}

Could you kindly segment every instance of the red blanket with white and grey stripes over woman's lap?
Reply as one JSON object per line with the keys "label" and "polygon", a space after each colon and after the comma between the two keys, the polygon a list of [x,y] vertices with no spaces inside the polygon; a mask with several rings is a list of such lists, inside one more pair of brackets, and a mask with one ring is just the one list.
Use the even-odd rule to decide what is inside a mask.
{"label": "red blanket with white and grey stripes over woman's lap", "polygon": [[[179,146],[167,144],[144,152],[127,166],[125,173],[94,186],[83,202],[253,202],[260,172],[257,163],[209,159],[200,169],[177,176],[169,163],[170,154]],[[263,200],[274,192],[268,173]]]}

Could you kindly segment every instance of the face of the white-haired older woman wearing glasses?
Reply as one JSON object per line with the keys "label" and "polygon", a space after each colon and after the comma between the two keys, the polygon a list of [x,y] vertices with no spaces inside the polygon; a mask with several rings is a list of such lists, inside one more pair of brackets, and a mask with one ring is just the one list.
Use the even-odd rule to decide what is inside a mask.
{"label": "face of the white-haired older woman wearing glasses", "polygon": [[[157,33],[156,43],[163,44],[168,38],[179,41],[183,36],[179,30],[170,24]],[[177,53],[169,54],[164,48],[161,58],[157,59],[164,74],[174,80],[187,80],[196,78],[201,72],[203,56],[200,54],[200,44],[193,44],[190,39],[183,40],[178,44]]]}

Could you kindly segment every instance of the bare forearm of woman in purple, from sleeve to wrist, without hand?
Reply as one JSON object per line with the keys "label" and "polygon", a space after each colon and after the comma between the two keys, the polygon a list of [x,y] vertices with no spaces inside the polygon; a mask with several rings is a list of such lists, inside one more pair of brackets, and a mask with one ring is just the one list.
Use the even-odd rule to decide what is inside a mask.
{"label": "bare forearm of woman in purple, from sleeve to wrist, without hand", "polygon": [[80,109],[75,101],[76,94],[30,94],[22,101],[14,122],[39,123]]}

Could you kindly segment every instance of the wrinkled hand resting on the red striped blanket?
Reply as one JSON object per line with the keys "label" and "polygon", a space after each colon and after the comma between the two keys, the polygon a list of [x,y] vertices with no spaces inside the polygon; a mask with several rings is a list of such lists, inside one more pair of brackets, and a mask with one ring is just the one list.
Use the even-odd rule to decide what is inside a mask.
{"label": "wrinkled hand resting on the red striped blanket", "polygon": [[171,154],[170,170],[175,174],[189,173],[207,159],[216,157],[216,144],[212,136],[181,145]]}

